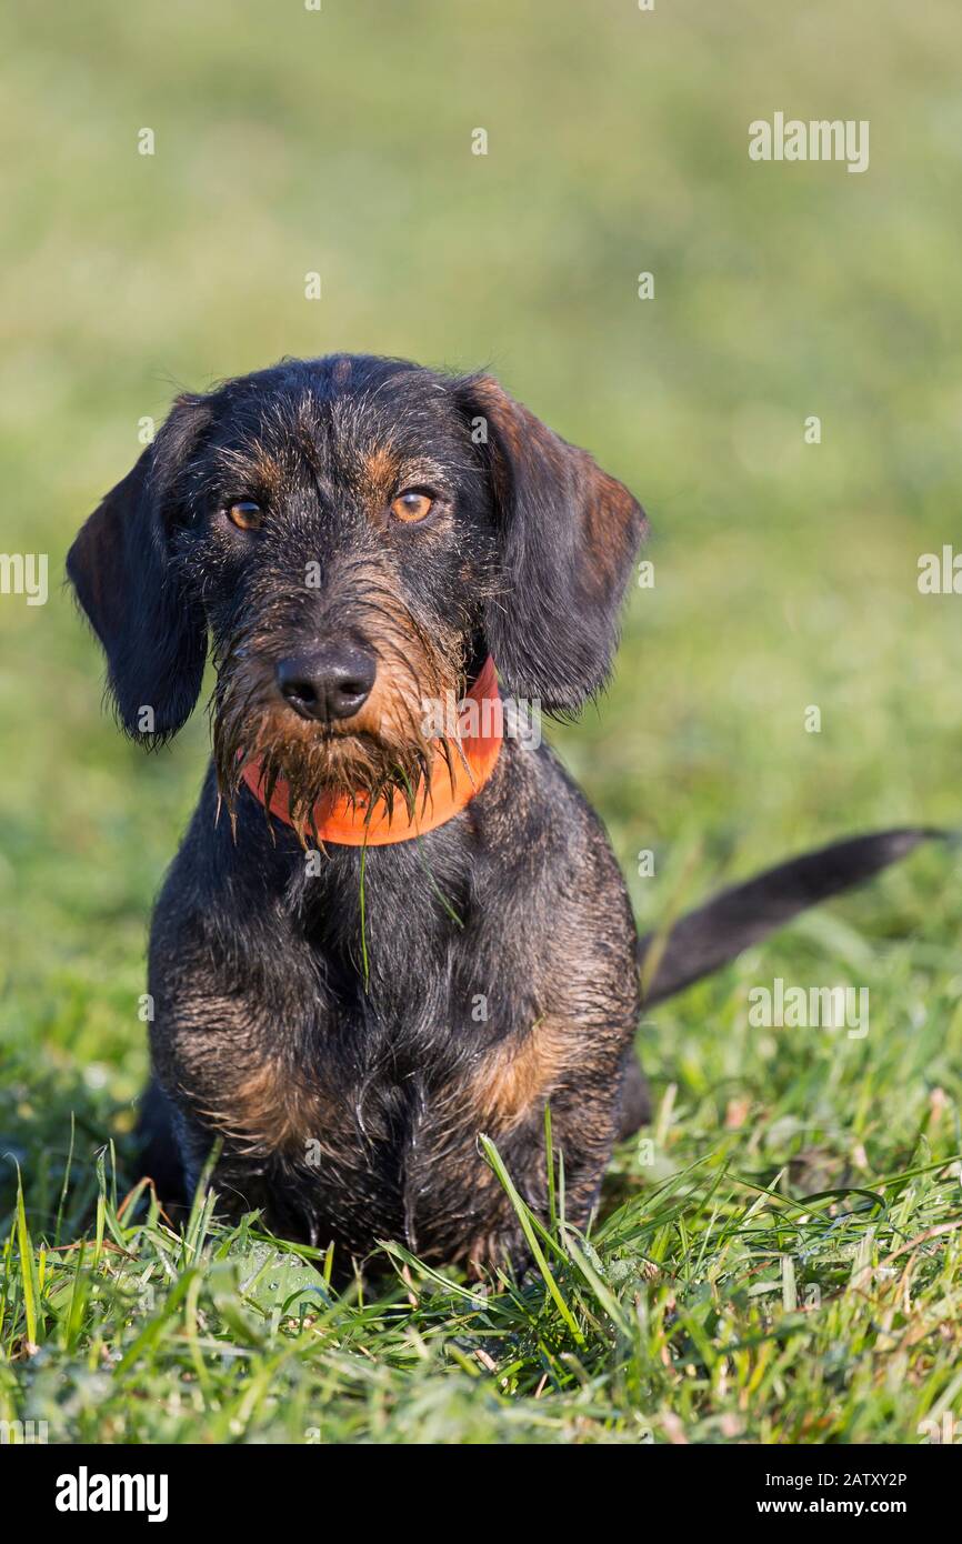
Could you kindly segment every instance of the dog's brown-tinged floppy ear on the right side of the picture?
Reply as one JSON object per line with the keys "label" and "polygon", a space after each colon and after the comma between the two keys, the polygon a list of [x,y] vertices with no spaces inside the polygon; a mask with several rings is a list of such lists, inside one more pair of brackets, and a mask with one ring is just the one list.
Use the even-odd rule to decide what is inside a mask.
{"label": "dog's brown-tinged floppy ear on the right side of the picture", "polygon": [[493,377],[462,381],[459,392],[497,522],[500,593],[485,605],[488,647],[508,693],[574,712],[611,669],[644,510]]}

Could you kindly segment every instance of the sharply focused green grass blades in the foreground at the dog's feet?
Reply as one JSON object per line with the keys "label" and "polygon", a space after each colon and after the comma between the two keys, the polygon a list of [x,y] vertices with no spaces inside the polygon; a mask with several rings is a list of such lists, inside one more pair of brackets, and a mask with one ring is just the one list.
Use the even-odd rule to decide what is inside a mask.
{"label": "sharply focused green grass blades in the foreground at the dog's feet", "polygon": [[[670,1124],[669,1101],[661,1122]],[[672,1144],[681,1146],[681,1139]],[[388,1246],[392,1289],[213,1218],[173,1232],[142,1187],[6,1257],[3,1416],[88,1442],[860,1442],[917,1439],[962,1388],[957,1177],[933,1163],[792,1198],[741,1143],[625,1200],[591,1238],[531,1218],[533,1280],[479,1289]],[[926,1161],[928,1160],[928,1161]],[[678,1167],[675,1167],[678,1164]]]}

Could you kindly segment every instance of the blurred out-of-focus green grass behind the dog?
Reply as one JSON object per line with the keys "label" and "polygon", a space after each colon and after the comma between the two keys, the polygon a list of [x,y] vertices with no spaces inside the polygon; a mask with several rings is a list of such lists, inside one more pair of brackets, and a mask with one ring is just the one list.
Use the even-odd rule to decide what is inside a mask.
{"label": "blurred out-of-focus green grass behind the dog", "polygon": [[[962,596],[916,584],[962,547],[957,0],[88,0],[2,25],[0,550],[49,553],[51,593],[0,598],[0,1146],[37,1232],[71,1113],[85,1163],[130,1127],[150,902],[207,755],[202,713],[156,757],[119,738],[60,590],[179,389],[283,354],[486,366],[641,497],[655,588],[554,738],[645,923],[852,829],[962,823]],[[778,110],[868,119],[869,170],[749,161]],[[659,1163],[723,1124],[803,1187],[908,1164],[922,1129],[957,1152],[960,922],[959,865],[920,855],[659,1010]],[[749,1036],[744,987],[777,973],[868,982],[869,1038]]]}

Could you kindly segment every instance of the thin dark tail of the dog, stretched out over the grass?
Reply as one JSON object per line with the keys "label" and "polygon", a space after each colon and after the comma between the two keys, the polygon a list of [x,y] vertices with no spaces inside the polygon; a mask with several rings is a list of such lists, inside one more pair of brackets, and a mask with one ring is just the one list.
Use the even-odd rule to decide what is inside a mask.
{"label": "thin dark tail of the dog, stretched out over the grass", "polygon": [[953,832],[923,826],[876,831],[832,841],[766,869],[744,885],[723,889],[704,906],[681,917],[667,933],[649,933],[638,943],[645,1007],[664,1002],[692,982],[741,954],[775,928],[829,896],[862,885],[897,863],[922,841],[951,840]]}

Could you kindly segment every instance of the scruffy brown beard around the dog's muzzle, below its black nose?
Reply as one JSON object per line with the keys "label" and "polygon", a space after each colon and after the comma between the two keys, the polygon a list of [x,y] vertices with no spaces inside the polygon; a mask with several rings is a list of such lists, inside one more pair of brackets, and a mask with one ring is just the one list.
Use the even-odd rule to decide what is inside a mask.
{"label": "scruffy brown beard around the dog's muzzle, below its black nose", "polygon": [[212,699],[218,792],[232,821],[244,769],[258,763],[261,795],[270,804],[283,778],[289,817],[304,840],[323,795],[343,797],[361,812],[383,798],[389,812],[400,798],[412,815],[423,781],[442,757],[449,772],[457,741],[425,733],[425,699],[442,701],[465,686],[463,664],[417,641],[408,655],[378,655],[375,689],[354,720],[298,718],[278,699],[273,669],[250,664],[250,645],[230,648],[218,664]]}

